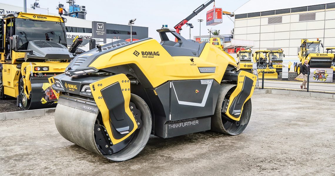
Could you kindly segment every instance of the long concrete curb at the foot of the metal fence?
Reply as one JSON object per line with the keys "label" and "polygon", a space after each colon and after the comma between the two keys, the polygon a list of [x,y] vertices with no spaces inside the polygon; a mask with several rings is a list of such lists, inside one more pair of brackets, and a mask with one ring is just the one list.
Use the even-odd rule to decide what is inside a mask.
{"label": "long concrete curb at the foot of the metal fence", "polygon": [[314,92],[303,92],[303,91],[293,91],[293,90],[276,90],[276,89],[259,89],[259,90],[254,91],[254,94],[265,94],[265,93],[335,99],[334,94],[328,94],[328,93],[314,93]]}

